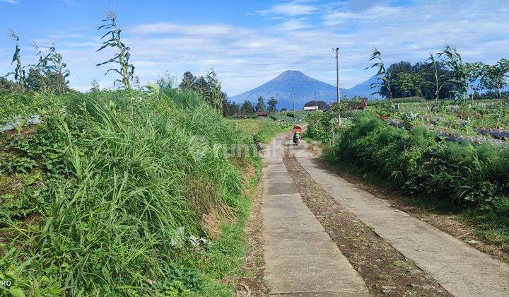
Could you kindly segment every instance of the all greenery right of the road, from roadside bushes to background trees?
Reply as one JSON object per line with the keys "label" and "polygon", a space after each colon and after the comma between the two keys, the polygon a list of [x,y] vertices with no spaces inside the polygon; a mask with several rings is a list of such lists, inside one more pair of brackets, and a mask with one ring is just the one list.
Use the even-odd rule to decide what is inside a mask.
{"label": "all greenery right of the road, from roadside bushes to background trees", "polygon": [[[331,112],[315,112],[307,117],[305,136],[327,147],[328,161],[370,175],[417,204],[462,214],[480,238],[507,251],[509,104],[501,89],[509,69],[505,59],[474,67],[452,47],[431,57],[416,66],[398,63],[385,69],[375,51],[373,67],[383,79],[374,88],[385,99],[359,111],[349,108],[359,99],[346,98]],[[493,67],[497,74],[490,72]],[[497,80],[496,86],[487,83]],[[416,88],[419,83],[423,88]]]}

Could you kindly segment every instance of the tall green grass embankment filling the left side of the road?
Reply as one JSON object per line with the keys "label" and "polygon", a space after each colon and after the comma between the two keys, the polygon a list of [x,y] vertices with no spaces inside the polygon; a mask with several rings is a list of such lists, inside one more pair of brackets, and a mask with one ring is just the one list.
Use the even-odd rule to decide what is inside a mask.
{"label": "tall green grass embankment filling the left side of the road", "polygon": [[252,134],[194,93],[72,98],[35,132],[0,136],[13,283],[0,295],[231,295],[261,167]]}

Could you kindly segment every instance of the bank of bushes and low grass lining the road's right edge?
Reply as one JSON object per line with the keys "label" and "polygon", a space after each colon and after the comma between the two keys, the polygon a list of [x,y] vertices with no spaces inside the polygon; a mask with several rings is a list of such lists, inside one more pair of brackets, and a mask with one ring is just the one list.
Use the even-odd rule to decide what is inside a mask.
{"label": "bank of bushes and low grass lining the road's right edge", "polygon": [[[308,136],[320,140],[327,129],[311,122]],[[406,131],[365,114],[334,143],[328,161],[386,180],[416,202],[460,211],[481,237],[509,248],[509,150],[436,141],[424,127]]]}

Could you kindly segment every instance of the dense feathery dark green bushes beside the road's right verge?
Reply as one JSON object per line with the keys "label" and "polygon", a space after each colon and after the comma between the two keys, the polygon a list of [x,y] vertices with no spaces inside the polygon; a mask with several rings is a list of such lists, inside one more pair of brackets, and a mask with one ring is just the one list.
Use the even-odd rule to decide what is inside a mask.
{"label": "dense feathery dark green bushes beside the road's right verge", "polygon": [[437,142],[426,128],[406,132],[373,117],[358,117],[354,123],[341,133],[338,158],[392,178],[409,194],[475,205],[509,194],[504,149]]}

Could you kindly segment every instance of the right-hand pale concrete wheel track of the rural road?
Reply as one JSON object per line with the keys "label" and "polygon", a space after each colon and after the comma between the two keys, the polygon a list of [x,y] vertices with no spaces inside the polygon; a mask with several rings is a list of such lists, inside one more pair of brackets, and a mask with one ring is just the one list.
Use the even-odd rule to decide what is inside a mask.
{"label": "right-hand pale concrete wheel track of the rural road", "polygon": [[[295,150],[293,154],[310,177],[335,202],[368,226],[385,243],[414,262],[416,267],[438,281],[452,295],[509,295],[507,264],[493,260],[404,211],[392,208],[387,202],[324,169],[308,150]],[[361,242],[359,248],[365,244]],[[349,260],[353,262],[352,258]]]}

